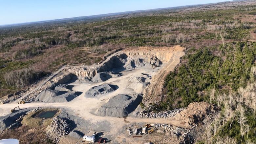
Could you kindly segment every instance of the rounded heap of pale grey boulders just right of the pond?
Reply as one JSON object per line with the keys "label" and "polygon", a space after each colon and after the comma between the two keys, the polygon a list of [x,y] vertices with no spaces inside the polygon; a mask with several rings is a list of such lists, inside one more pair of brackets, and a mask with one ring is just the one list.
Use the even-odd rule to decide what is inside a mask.
{"label": "rounded heap of pale grey boulders just right of the pond", "polygon": [[72,127],[66,119],[55,117],[53,118],[51,128],[52,128],[52,133],[56,134],[54,141],[58,143],[59,138],[62,135],[69,134],[71,132]]}

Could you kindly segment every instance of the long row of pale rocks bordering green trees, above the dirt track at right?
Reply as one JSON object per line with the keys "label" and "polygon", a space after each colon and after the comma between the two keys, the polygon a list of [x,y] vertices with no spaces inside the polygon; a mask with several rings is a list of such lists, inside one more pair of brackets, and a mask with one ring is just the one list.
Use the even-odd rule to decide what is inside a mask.
{"label": "long row of pale rocks bordering green trees, above the dirt track at right", "polygon": [[180,113],[181,111],[183,111],[185,109],[186,108],[181,108],[181,109],[175,109],[175,110],[159,112],[159,113],[154,113],[154,112],[148,113],[148,111],[151,111],[151,110],[148,110],[148,111],[144,110],[139,113],[139,116],[146,117],[146,118],[169,118],[171,116],[174,116],[177,113]]}

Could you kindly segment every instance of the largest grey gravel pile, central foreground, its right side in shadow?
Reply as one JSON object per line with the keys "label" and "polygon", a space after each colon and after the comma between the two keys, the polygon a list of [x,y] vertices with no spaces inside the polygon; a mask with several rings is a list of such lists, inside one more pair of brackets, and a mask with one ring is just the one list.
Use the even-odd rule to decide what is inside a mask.
{"label": "largest grey gravel pile, central foreground, its right side in shadow", "polygon": [[97,111],[98,116],[124,117],[133,112],[142,101],[140,94],[118,94],[109,99]]}

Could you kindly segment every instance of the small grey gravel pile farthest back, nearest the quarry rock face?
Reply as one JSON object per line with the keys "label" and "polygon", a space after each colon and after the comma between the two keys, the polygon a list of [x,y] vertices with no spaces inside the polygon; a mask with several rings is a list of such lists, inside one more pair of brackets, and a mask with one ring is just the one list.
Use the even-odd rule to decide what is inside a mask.
{"label": "small grey gravel pile farthest back, nearest the quarry rock face", "polygon": [[112,77],[119,77],[119,74],[113,74],[111,72],[98,72],[92,79],[92,82],[104,82]]}

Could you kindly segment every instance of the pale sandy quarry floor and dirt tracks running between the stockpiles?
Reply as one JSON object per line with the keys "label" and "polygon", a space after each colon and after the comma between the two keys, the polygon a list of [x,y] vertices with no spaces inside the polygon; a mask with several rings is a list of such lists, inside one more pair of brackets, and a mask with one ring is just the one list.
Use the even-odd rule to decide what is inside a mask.
{"label": "pale sandy quarry floor and dirt tracks running between the stockpiles", "polygon": [[[179,63],[180,57],[184,54],[183,49],[179,49],[179,50],[172,49],[172,51],[174,53],[171,55],[171,59],[170,59],[171,61],[166,63],[166,65],[163,64],[161,67],[158,67],[156,69],[142,67],[142,68],[127,70],[127,71],[121,72],[123,75],[120,77],[110,78],[107,81],[100,82],[100,83],[83,83],[79,81],[71,83],[70,85],[74,85],[73,90],[82,92],[82,94],[68,103],[32,102],[32,103],[26,103],[26,104],[17,104],[16,103],[17,101],[16,101],[15,103],[13,102],[13,103],[0,105],[0,112],[1,112],[0,116],[10,114],[11,113],[10,110],[16,106],[19,106],[21,109],[32,108],[32,107],[59,107],[59,108],[64,108],[74,112],[72,113],[73,115],[79,116],[86,121],[90,121],[90,123],[98,124],[100,122],[108,122],[110,124],[111,129],[109,130],[109,132],[106,132],[106,134],[113,135],[117,139],[121,139],[123,135],[123,134],[120,134],[119,130],[122,129],[125,125],[128,125],[129,123],[134,123],[134,122],[165,123],[165,124],[173,124],[176,126],[187,128],[181,125],[181,121],[171,120],[171,118],[149,119],[149,118],[139,118],[134,116],[127,116],[126,118],[123,118],[123,117],[118,118],[118,117],[107,117],[107,116],[101,117],[101,116],[95,115],[95,111],[100,106],[105,104],[109,100],[109,98],[119,93],[121,94],[143,93],[143,90],[144,90],[144,88],[142,87],[143,85],[141,85],[140,83],[131,83],[129,81],[129,79],[133,76],[141,75],[141,73],[146,73],[153,76],[158,73],[157,77],[153,79],[154,80],[153,86],[154,88],[157,88],[156,85],[159,82],[162,82],[165,73],[169,72],[170,70],[173,70],[174,67]],[[64,68],[61,68],[58,72],[60,72],[63,69]],[[55,75],[56,73],[57,72],[53,73],[53,75]],[[51,78],[52,76],[47,78],[46,81],[50,80]],[[159,80],[155,82],[157,78],[159,78]],[[45,83],[45,81],[41,82],[38,87],[40,87],[42,83]],[[104,94],[104,95],[101,95],[100,97],[88,98],[84,96],[85,92],[88,91],[90,88],[101,85],[101,84],[113,84],[113,85],[117,85],[119,88],[112,93]],[[134,91],[131,88],[136,88],[136,90]]]}

